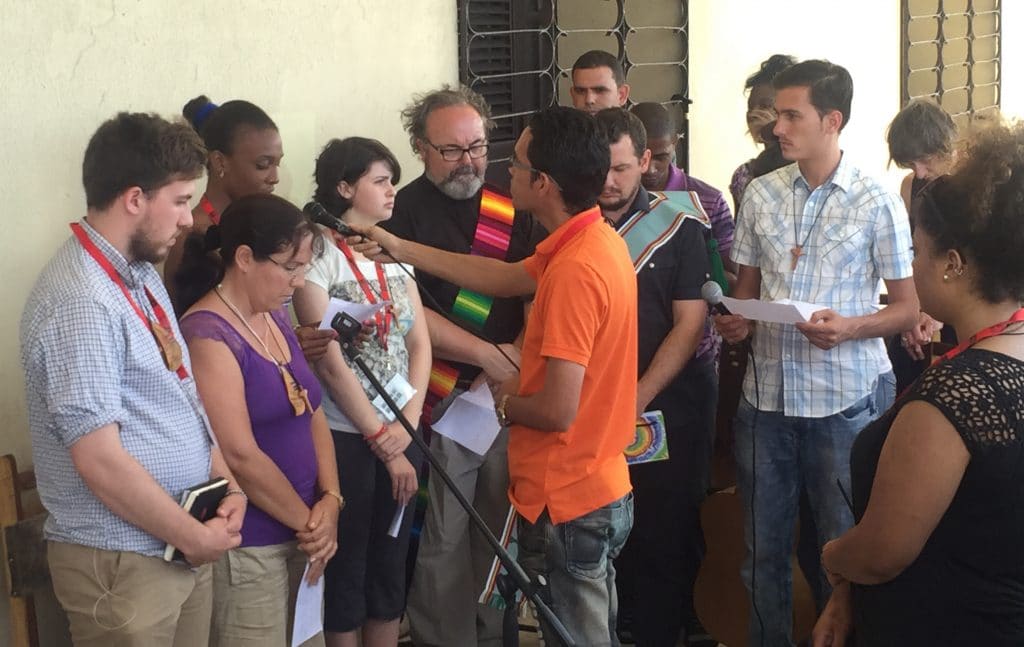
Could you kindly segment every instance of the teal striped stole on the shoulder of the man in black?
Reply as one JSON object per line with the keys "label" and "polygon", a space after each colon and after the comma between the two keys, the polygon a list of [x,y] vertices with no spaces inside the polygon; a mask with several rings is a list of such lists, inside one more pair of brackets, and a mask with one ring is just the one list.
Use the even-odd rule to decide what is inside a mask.
{"label": "teal striped stole on the shoulder of the man in black", "polygon": [[618,229],[626,241],[633,269],[637,273],[644,264],[672,240],[687,218],[693,218],[706,228],[711,228],[711,218],[700,205],[695,191],[672,191],[672,198],[660,191],[650,191],[647,211],[638,211]]}

